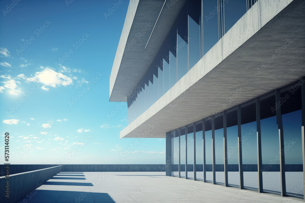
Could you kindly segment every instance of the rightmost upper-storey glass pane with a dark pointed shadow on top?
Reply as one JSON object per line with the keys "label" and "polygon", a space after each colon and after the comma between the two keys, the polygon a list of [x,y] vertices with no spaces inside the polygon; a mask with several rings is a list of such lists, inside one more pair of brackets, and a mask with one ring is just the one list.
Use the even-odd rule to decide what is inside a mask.
{"label": "rightmost upper-storey glass pane with a dark pointed shadow on top", "polygon": [[201,1],[188,1],[188,68],[200,60],[200,12]]}

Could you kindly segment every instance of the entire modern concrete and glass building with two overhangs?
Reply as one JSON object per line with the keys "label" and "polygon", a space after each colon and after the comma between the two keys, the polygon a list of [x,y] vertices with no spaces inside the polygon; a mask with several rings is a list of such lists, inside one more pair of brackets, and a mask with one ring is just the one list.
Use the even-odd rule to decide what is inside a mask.
{"label": "entire modern concrete and glass building with two overhangs", "polygon": [[120,138],[166,138],[167,176],[304,199],[304,11],[131,0],[110,75]]}

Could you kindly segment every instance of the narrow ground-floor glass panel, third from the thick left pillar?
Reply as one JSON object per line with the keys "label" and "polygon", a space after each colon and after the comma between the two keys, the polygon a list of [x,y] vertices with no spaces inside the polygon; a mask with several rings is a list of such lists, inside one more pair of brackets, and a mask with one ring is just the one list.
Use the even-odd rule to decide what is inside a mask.
{"label": "narrow ground-floor glass panel, third from the thick left pillar", "polygon": [[194,179],[194,127],[188,127],[187,135],[187,171],[188,178]]}

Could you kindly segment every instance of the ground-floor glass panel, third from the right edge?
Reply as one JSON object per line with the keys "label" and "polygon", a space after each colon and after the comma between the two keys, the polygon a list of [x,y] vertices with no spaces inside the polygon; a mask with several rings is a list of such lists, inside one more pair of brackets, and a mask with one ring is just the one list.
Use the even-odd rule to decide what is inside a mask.
{"label": "ground-floor glass panel, third from the right edge", "polygon": [[249,102],[241,108],[242,168],[244,187],[258,188],[256,105]]}

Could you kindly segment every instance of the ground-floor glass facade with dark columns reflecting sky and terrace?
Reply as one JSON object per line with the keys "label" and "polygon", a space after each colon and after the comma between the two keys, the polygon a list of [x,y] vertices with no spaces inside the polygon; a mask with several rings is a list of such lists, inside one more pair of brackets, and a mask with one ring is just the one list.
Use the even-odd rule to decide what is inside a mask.
{"label": "ground-floor glass facade with dark columns reflecting sky and terrace", "polygon": [[[305,87],[302,86],[304,78],[241,104],[240,114],[233,107],[196,122],[195,128],[190,124],[172,131],[177,142],[179,139],[174,136],[180,135],[180,177],[185,178],[187,166],[186,178],[194,179],[195,166],[196,180],[278,195],[283,187],[283,196],[303,199],[302,104],[304,108],[305,99],[302,100],[302,91]],[[173,142],[173,148],[179,146],[177,142]],[[282,152],[280,143],[283,143]]]}

